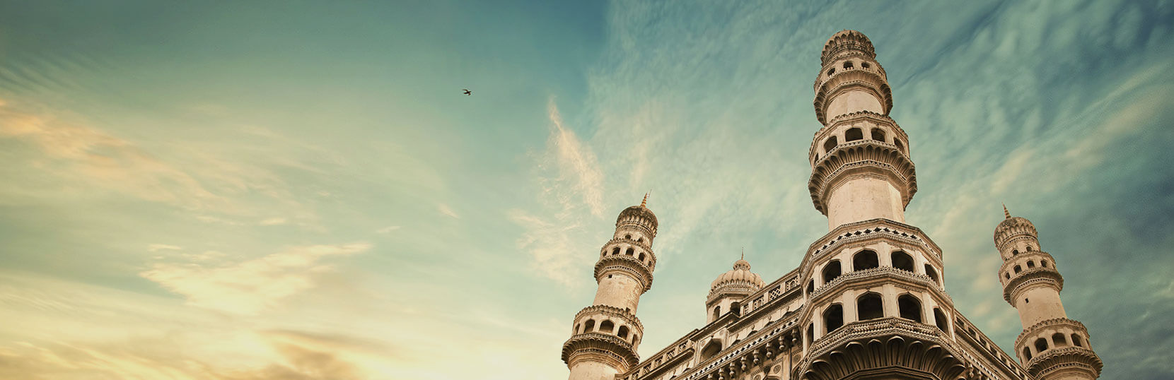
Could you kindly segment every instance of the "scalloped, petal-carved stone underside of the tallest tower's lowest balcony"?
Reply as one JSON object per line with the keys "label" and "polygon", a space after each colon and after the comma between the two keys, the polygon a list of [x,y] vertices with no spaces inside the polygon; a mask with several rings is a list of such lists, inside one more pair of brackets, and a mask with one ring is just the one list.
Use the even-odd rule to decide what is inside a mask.
{"label": "scalloped, petal-carved stone underside of the tallest tower's lowest balcony", "polygon": [[796,367],[799,379],[853,379],[900,374],[954,380],[966,375],[965,355],[938,328],[902,318],[856,321],[816,340]]}

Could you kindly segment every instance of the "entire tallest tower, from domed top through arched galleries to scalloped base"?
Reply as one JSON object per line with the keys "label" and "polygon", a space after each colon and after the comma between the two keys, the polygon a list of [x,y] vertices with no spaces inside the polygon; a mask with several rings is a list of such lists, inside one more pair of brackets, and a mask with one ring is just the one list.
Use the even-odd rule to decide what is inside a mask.
{"label": "entire tallest tower, from domed top through arched galleries to scalloped base", "polygon": [[951,342],[942,249],[904,224],[917,179],[885,70],[856,30],[832,35],[821,62],[808,190],[829,232],[799,266],[795,378],[958,379],[970,364]]}

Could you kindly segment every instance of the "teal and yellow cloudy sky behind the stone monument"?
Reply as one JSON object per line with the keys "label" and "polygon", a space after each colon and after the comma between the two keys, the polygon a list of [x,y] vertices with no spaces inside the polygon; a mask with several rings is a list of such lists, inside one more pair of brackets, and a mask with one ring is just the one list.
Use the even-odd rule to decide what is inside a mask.
{"label": "teal and yellow cloudy sky behind the stone monument", "polygon": [[1172,27],[1168,0],[0,1],[0,378],[564,378],[652,191],[647,357],[741,250],[770,281],[826,233],[811,83],[842,29],[957,310],[1021,330],[1005,203],[1101,378],[1174,378]]}

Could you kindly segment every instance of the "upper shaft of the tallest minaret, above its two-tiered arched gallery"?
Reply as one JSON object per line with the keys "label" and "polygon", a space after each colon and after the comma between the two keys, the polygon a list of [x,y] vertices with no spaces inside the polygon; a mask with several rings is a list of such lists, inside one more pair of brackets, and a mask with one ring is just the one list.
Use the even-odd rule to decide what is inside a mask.
{"label": "upper shaft of the tallest minaret, above its two-tiered arched gallery", "polygon": [[815,114],[824,127],[809,151],[808,189],[828,229],[885,218],[905,222],[917,192],[909,136],[889,118],[892,91],[872,42],[863,33],[836,33],[819,56]]}

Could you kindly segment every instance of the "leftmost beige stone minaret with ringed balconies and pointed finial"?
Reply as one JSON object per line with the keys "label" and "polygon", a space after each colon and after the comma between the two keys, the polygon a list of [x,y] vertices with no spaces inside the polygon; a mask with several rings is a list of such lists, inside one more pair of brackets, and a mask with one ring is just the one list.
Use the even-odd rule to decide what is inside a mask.
{"label": "leftmost beige stone minaret with ringed balconies and pointed finial", "polygon": [[640,361],[636,346],[645,332],[636,304],[653,286],[656,267],[656,215],[647,204],[646,194],[640,205],[621,211],[615,235],[600,250],[595,303],[575,314],[571,339],[562,345],[571,380],[614,380]]}

